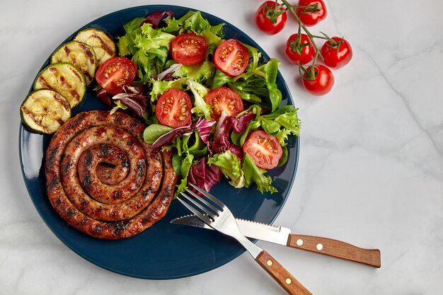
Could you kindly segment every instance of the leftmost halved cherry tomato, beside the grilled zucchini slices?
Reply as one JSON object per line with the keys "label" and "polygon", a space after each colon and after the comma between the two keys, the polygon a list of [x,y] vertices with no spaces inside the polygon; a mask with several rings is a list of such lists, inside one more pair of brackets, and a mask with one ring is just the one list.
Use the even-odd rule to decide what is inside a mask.
{"label": "leftmost halved cherry tomato, beside the grilled zucchini slices", "polygon": [[97,83],[109,94],[117,94],[123,86],[131,85],[137,74],[137,66],[126,57],[111,57],[96,72]]}

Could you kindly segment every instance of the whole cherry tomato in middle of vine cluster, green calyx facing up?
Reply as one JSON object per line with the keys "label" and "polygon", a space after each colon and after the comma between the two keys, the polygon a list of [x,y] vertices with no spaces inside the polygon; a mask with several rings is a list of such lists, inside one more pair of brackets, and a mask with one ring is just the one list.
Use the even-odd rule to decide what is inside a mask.
{"label": "whole cherry tomato in middle of vine cluster, green calyx facing up", "polygon": [[311,62],[315,55],[315,49],[312,46],[306,34],[293,34],[289,36],[284,48],[287,59],[292,64],[307,64]]}

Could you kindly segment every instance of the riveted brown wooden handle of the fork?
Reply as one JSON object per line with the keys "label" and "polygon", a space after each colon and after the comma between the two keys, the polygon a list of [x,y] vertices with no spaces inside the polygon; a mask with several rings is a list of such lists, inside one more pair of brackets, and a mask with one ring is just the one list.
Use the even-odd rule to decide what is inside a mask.
{"label": "riveted brown wooden handle of the fork", "polygon": [[292,274],[285,270],[284,267],[282,267],[282,265],[272,258],[272,256],[265,250],[258,254],[255,261],[257,261],[258,264],[261,265],[261,267],[263,267],[263,269],[266,270],[266,272],[270,274],[288,294],[312,295],[308,289],[297,281],[297,279],[292,277]]}

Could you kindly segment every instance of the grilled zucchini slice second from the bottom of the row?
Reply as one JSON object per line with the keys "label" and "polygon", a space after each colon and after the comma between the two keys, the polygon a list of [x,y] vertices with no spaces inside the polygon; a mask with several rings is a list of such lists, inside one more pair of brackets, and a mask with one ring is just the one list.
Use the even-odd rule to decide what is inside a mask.
{"label": "grilled zucchini slice second from the bottom of the row", "polygon": [[47,88],[60,93],[71,108],[81,103],[86,93],[84,74],[67,62],[50,64],[35,79],[34,90]]}

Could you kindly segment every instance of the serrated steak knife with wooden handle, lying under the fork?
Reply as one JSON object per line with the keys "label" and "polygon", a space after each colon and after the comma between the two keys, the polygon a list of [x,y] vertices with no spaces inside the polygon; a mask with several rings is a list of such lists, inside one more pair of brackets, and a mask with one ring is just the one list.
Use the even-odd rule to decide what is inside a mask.
{"label": "serrated steak knife with wooden handle, lying under the fork", "polygon": [[[321,253],[373,267],[381,267],[379,249],[364,249],[331,238],[294,234],[291,233],[290,229],[283,226],[270,226],[244,219],[236,219],[236,221],[241,233],[248,238],[256,238],[261,241],[286,245],[291,248]],[[186,226],[212,229],[195,215],[178,217],[173,219],[171,224],[183,224]]]}

